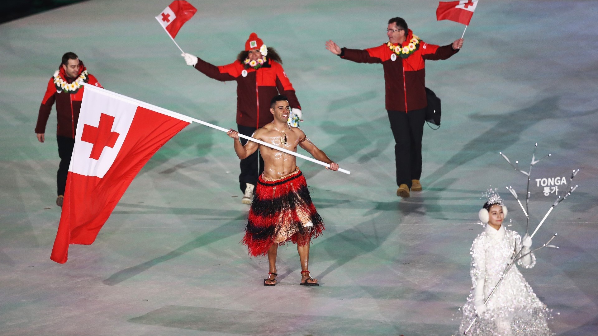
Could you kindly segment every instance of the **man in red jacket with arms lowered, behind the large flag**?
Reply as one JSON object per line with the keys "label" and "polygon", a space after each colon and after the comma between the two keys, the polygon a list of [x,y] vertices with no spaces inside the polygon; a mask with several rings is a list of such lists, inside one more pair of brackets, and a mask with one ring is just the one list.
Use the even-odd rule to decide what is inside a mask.
{"label": "man in red jacket with arms lowered, behind the large flag", "polygon": [[71,164],[73,146],[75,145],[75,131],[81,110],[84,87],[81,81],[102,87],[96,78],[87,73],[83,62],[75,53],[66,53],[62,56],[62,63],[54,76],[48,81],[44,100],[39,106],[39,114],[35,133],[39,142],[45,140],[45,125],[50,117],[52,105],[56,102],[56,141],[58,142],[58,156],[60,164],[57,173],[58,197],[56,205],[62,207],[65,194],[66,175]]}

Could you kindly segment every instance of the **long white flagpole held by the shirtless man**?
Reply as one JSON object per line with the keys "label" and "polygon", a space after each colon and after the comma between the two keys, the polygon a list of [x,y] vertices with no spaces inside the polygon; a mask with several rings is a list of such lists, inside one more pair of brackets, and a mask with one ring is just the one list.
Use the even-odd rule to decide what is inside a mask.
{"label": "long white flagpole held by the shirtless man", "polygon": [[[141,100],[137,100],[137,99],[133,99],[131,97],[123,96],[122,94],[118,94],[118,93],[106,90],[105,88],[99,88],[99,87],[96,87],[95,85],[91,85],[89,83],[80,83],[80,84],[83,85],[87,90],[91,89],[91,90],[97,91],[98,93],[105,94],[106,96],[112,96],[112,97],[115,97],[117,99],[124,100],[126,102],[133,102],[133,103],[136,103],[138,106],[142,106],[144,108],[151,109],[152,111],[156,111],[156,112],[160,112],[160,113],[163,113],[163,114],[166,114],[166,115],[170,115],[171,117],[175,117],[175,118],[178,118],[178,119],[181,119],[181,120],[185,120],[185,121],[189,121],[189,122],[195,121],[196,123],[199,123],[199,124],[202,124],[202,125],[205,125],[205,126],[208,126],[208,127],[212,127],[212,129],[221,130],[222,132],[228,132],[228,130],[225,129],[224,127],[220,127],[220,126],[216,126],[214,124],[206,123],[205,121],[202,121],[202,120],[199,120],[199,119],[196,119],[196,118],[191,118],[191,117],[188,117],[187,115],[180,114],[180,113],[177,113],[177,112],[170,111],[168,109],[161,108],[160,106],[151,105],[151,104],[148,104],[146,102],[142,102]],[[263,142],[262,140],[251,138],[251,136],[246,136],[246,135],[242,135],[242,134],[239,133],[239,137],[243,138],[243,139],[248,139],[248,140],[253,141],[253,142],[257,142],[260,145],[264,145],[264,146],[276,149],[277,151],[285,152],[286,154],[291,154],[291,155],[294,155],[296,157],[303,158],[304,160],[307,160],[307,161],[312,161],[313,163],[320,164],[321,166],[324,166],[324,167],[328,167],[328,168],[330,167],[329,163],[325,163],[325,162],[322,162],[320,160],[316,160],[315,158],[308,157],[308,156],[303,155],[303,154],[299,154],[298,152],[289,151],[286,148],[282,148],[282,147],[279,147],[279,146],[274,146],[271,143],[267,143],[267,142]],[[349,170],[342,169],[342,168],[338,168],[338,171],[341,172],[341,173],[345,173],[345,174],[350,174],[351,173]]]}

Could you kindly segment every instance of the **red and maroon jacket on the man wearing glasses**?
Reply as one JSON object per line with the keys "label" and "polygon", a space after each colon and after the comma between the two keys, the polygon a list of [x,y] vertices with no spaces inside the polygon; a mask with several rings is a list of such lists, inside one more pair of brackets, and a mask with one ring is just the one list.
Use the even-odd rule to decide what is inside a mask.
{"label": "red and maroon jacket on the man wearing glasses", "polygon": [[[407,39],[402,46],[407,46],[411,38],[413,32],[409,29]],[[405,59],[398,55],[396,58],[391,58],[395,53],[386,43],[366,50],[342,48],[340,57],[357,63],[382,63],[386,87],[386,109],[407,112],[428,106],[425,60],[446,60],[458,51],[459,49],[453,50],[451,44],[439,47],[420,40],[419,48]]]}

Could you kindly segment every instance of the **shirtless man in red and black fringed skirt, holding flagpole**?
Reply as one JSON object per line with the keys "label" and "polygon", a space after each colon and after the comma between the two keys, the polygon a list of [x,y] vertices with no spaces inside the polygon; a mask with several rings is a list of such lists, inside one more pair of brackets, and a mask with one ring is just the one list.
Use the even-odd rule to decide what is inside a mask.
{"label": "shirtless man in red and black fringed skirt, holding flagpole", "polygon": [[[326,169],[338,170],[338,164],[307,139],[301,129],[287,124],[291,106],[285,96],[272,98],[270,112],[274,120],[256,130],[252,138],[293,152],[297,152],[299,145],[316,160],[330,164]],[[258,179],[243,238],[250,255],[268,255],[270,276],[264,279],[264,286],[276,285],[276,252],[278,246],[286,242],[297,244],[301,285],[319,286],[318,280],[310,277],[307,266],[309,244],[312,238],[322,234],[324,223],[309,196],[307,182],[297,167],[297,159],[294,155],[253,141],[243,146],[236,130],[231,129],[227,134],[234,139],[234,151],[241,160],[257,151],[258,146],[264,158],[264,172]]]}

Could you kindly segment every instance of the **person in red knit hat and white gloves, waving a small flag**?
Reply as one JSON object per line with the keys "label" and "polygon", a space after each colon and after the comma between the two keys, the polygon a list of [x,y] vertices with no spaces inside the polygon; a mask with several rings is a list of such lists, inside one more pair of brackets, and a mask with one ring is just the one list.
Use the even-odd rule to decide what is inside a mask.
{"label": "person in red knit hat and white gloves, waving a small flag", "polygon": [[[245,42],[245,50],[237,56],[237,60],[229,65],[215,66],[191,54],[182,54],[187,65],[194,66],[209,78],[219,81],[237,82],[237,127],[239,133],[251,136],[255,130],[264,127],[273,120],[270,113],[270,99],[283,94],[289,99],[292,111],[289,123],[301,118],[301,106],[295,96],[295,89],[286,77],[282,68],[282,60],[271,47],[256,33],[251,33]],[[245,145],[246,139],[241,139]],[[264,160],[258,153],[241,160],[239,187],[243,192],[244,204],[251,204],[258,176],[264,171]]]}

